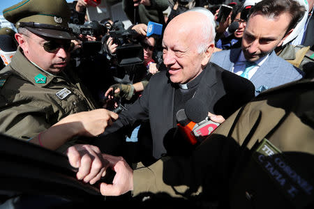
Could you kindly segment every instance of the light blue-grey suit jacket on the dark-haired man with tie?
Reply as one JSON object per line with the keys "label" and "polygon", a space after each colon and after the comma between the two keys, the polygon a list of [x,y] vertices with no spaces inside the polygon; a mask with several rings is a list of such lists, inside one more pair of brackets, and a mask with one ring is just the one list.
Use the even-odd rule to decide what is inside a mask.
{"label": "light blue-grey suit jacket on the dark-haired man with tie", "polygon": [[[232,71],[240,54],[241,48],[215,52],[211,56],[211,62],[225,70]],[[255,86],[255,95],[258,95],[268,88],[286,84],[301,79],[301,77],[303,77],[303,72],[299,68],[278,57],[273,51],[250,80]]]}

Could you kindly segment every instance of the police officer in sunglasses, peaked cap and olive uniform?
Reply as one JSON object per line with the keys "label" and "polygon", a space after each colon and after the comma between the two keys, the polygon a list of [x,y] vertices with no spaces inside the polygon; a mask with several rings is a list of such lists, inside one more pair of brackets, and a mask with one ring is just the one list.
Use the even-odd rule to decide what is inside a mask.
{"label": "police officer in sunglasses, peaked cap and olive uniform", "polygon": [[29,140],[70,114],[96,109],[68,66],[75,36],[66,1],[24,0],[3,16],[17,27],[19,47],[0,72],[0,132]]}

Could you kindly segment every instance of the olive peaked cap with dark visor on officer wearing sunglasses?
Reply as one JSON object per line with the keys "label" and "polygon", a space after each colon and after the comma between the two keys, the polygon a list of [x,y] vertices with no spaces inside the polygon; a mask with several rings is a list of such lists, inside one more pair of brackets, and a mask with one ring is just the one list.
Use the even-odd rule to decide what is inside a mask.
{"label": "olive peaked cap with dark visor on officer wearing sunglasses", "polygon": [[40,36],[73,39],[68,27],[70,8],[66,0],[24,0],[3,10],[17,28],[25,27]]}

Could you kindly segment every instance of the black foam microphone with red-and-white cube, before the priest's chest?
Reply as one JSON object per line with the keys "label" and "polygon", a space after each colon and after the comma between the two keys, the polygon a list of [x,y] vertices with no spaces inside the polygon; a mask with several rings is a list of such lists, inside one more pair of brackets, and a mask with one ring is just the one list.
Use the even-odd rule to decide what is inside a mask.
{"label": "black foam microphone with red-and-white cube, before the priest's chest", "polygon": [[205,137],[211,134],[219,123],[209,120],[206,104],[197,98],[192,98],[186,102],[184,107],[186,116],[195,123],[193,134],[195,137]]}

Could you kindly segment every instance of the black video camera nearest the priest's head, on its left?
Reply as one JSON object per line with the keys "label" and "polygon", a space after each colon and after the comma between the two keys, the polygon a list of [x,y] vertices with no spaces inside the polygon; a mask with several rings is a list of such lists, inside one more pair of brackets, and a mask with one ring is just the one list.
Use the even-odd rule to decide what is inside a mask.
{"label": "black video camera nearest the priest's head, on its left", "polygon": [[113,38],[115,44],[118,45],[115,54],[117,65],[135,65],[144,62],[143,47],[135,39],[137,32],[133,29],[124,29],[124,24],[121,21],[116,21],[109,29],[109,35],[103,38],[103,49],[108,54],[111,54],[107,49],[107,40],[109,37]]}

